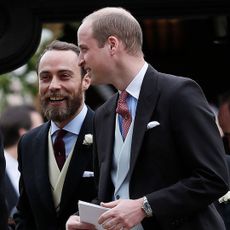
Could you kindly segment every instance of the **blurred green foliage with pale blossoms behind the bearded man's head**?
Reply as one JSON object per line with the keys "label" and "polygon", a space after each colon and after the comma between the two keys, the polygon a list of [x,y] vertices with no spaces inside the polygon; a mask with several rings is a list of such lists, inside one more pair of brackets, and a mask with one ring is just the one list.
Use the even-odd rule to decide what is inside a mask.
{"label": "blurred green foliage with pale blossoms behind the bearded man's head", "polygon": [[44,24],[40,45],[29,61],[19,69],[0,75],[0,113],[12,104],[38,102],[37,59],[45,46],[54,39],[76,44],[76,29],[79,22]]}

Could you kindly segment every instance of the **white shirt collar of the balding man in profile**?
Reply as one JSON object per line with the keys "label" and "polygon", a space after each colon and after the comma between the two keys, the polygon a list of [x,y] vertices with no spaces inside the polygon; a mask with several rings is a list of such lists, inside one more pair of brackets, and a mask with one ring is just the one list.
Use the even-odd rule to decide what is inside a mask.
{"label": "white shirt collar of the balding man in profile", "polygon": [[134,79],[129,83],[128,87],[126,88],[126,91],[136,98],[138,100],[140,90],[141,90],[141,85],[145,76],[145,73],[148,69],[148,64],[147,62],[144,63],[142,66],[141,70],[137,73],[137,75],[134,77]]}

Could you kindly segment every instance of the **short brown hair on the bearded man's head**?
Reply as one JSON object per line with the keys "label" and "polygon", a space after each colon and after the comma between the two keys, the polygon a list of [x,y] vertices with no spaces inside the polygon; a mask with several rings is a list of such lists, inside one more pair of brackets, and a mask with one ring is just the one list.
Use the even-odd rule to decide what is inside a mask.
{"label": "short brown hair on the bearded man's head", "polygon": [[[50,44],[48,44],[46,46],[46,48],[44,49],[44,51],[42,52],[42,54],[40,55],[40,57],[37,60],[37,66],[36,66],[36,71],[38,73],[38,66],[40,64],[41,58],[43,57],[43,55],[47,52],[47,51],[51,51],[51,50],[60,50],[60,51],[68,51],[71,50],[74,53],[76,53],[77,56],[79,56],[80,54],[80,49],[78,46],[76,46],[73,43],[69,43],[69,42],[64,42],[64,41],[59,41],[59,40],[54,40],[52,41]],[[81,76],[85,76],[86,72],[84,71],[83,68],[81,68]]]}

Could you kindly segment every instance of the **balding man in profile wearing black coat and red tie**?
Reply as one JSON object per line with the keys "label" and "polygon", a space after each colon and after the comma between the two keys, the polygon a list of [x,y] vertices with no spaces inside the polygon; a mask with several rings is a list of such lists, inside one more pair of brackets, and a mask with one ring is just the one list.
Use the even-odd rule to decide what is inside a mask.
{"label": "balding man in profile wearing black coat and red tie", "polygon": [[[92,84],[118,93],[94,119],[98,201],[104,229],[224,230],[212,204],[228,191],[223,143],[207,100],[189,78],[144,60],[142,30],[125,9],[106,7],[78,29],[79,65]],[[67,229],[88,229],[72,216]]]}

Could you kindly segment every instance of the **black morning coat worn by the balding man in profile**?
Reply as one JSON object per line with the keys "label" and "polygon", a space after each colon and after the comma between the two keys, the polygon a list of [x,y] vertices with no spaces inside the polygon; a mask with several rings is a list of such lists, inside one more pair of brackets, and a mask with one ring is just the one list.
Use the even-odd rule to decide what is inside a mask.
{"label": "black morning coat worn by the balding man in profile", "polygon": [[[95,175],[99,201],[110,201],[118,94],[95,113]],[[148,129],[150,121],[159,126]],[[131,199],[144,195],[154,216],[145,229],[222,230],[214,200],[228,190],[224,147],[214,114],[191,79],[157,72],[144,76],[134,121],[130,158]]]}

